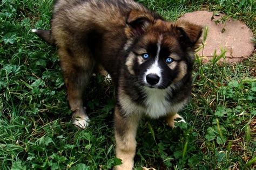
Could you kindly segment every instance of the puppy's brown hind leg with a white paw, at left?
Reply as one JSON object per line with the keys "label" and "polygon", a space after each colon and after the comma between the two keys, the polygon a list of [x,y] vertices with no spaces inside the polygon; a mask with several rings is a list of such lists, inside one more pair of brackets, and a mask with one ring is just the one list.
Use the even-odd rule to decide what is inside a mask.
{"label": "puppy's brown hind leg with a white paw, at left", "polygon": [[89,117],[83,107],[83,92],[90,79],[95,62],[89,53],[75,54],[65,48],[59,48],[58,54],[68,91],[69,105],[73,112],[73,124],[85,129],[89,124]]}

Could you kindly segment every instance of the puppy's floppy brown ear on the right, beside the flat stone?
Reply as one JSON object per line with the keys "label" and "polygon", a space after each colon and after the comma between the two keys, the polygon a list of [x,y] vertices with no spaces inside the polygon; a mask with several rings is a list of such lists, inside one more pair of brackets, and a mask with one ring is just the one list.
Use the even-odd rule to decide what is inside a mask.
{"label": "puppy's floppy brown ear on the right, beside the flat stone", "polygon": [[180,20],[175,24],[178,31],[179,42],[184,47],[197,48],[203,27]]}

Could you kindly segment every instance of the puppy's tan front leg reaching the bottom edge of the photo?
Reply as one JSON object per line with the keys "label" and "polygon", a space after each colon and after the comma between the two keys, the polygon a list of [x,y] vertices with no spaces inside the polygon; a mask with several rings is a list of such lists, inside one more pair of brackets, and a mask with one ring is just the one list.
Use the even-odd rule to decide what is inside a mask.
{"label": "puppy's tan front leg reaching the bottom edge of the photo", "polygon": [[132,169],[136,152],[136,132],[140,117],[138,115],[120,114],[116,107],[114,111],[114,131],[116,138],[116,157],[122,159],[122,165],[114,169]]}

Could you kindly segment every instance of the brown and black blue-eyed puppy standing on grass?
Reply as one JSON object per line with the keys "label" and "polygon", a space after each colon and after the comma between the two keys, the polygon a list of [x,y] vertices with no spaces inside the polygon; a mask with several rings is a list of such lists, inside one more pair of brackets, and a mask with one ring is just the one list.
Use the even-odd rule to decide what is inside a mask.
{"label": "brown and black blue-eyed puppy standing on grass", "polygon": [[89,117],[82,96],[96,67],[110,74],[116,87],[114,136],[116,157],[132,169],[140,119],[174,119],[191,94],[194,49],[202,27],[168,22],[132,0],[58,0],[51,30],[32,30],[58,47],[73,124],[86,128]]}

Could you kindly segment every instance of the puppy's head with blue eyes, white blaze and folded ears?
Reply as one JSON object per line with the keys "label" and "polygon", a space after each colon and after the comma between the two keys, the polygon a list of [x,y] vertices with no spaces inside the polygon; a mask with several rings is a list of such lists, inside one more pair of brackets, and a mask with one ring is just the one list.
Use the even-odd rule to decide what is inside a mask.
{"label": "puppy's head with blue eyes, white blaze and folded ears", "polygon": [[126,24],[125,64],[141,86],[164,89],[191,75],[201,26],[166,22],[140,11],[131,11]]}

